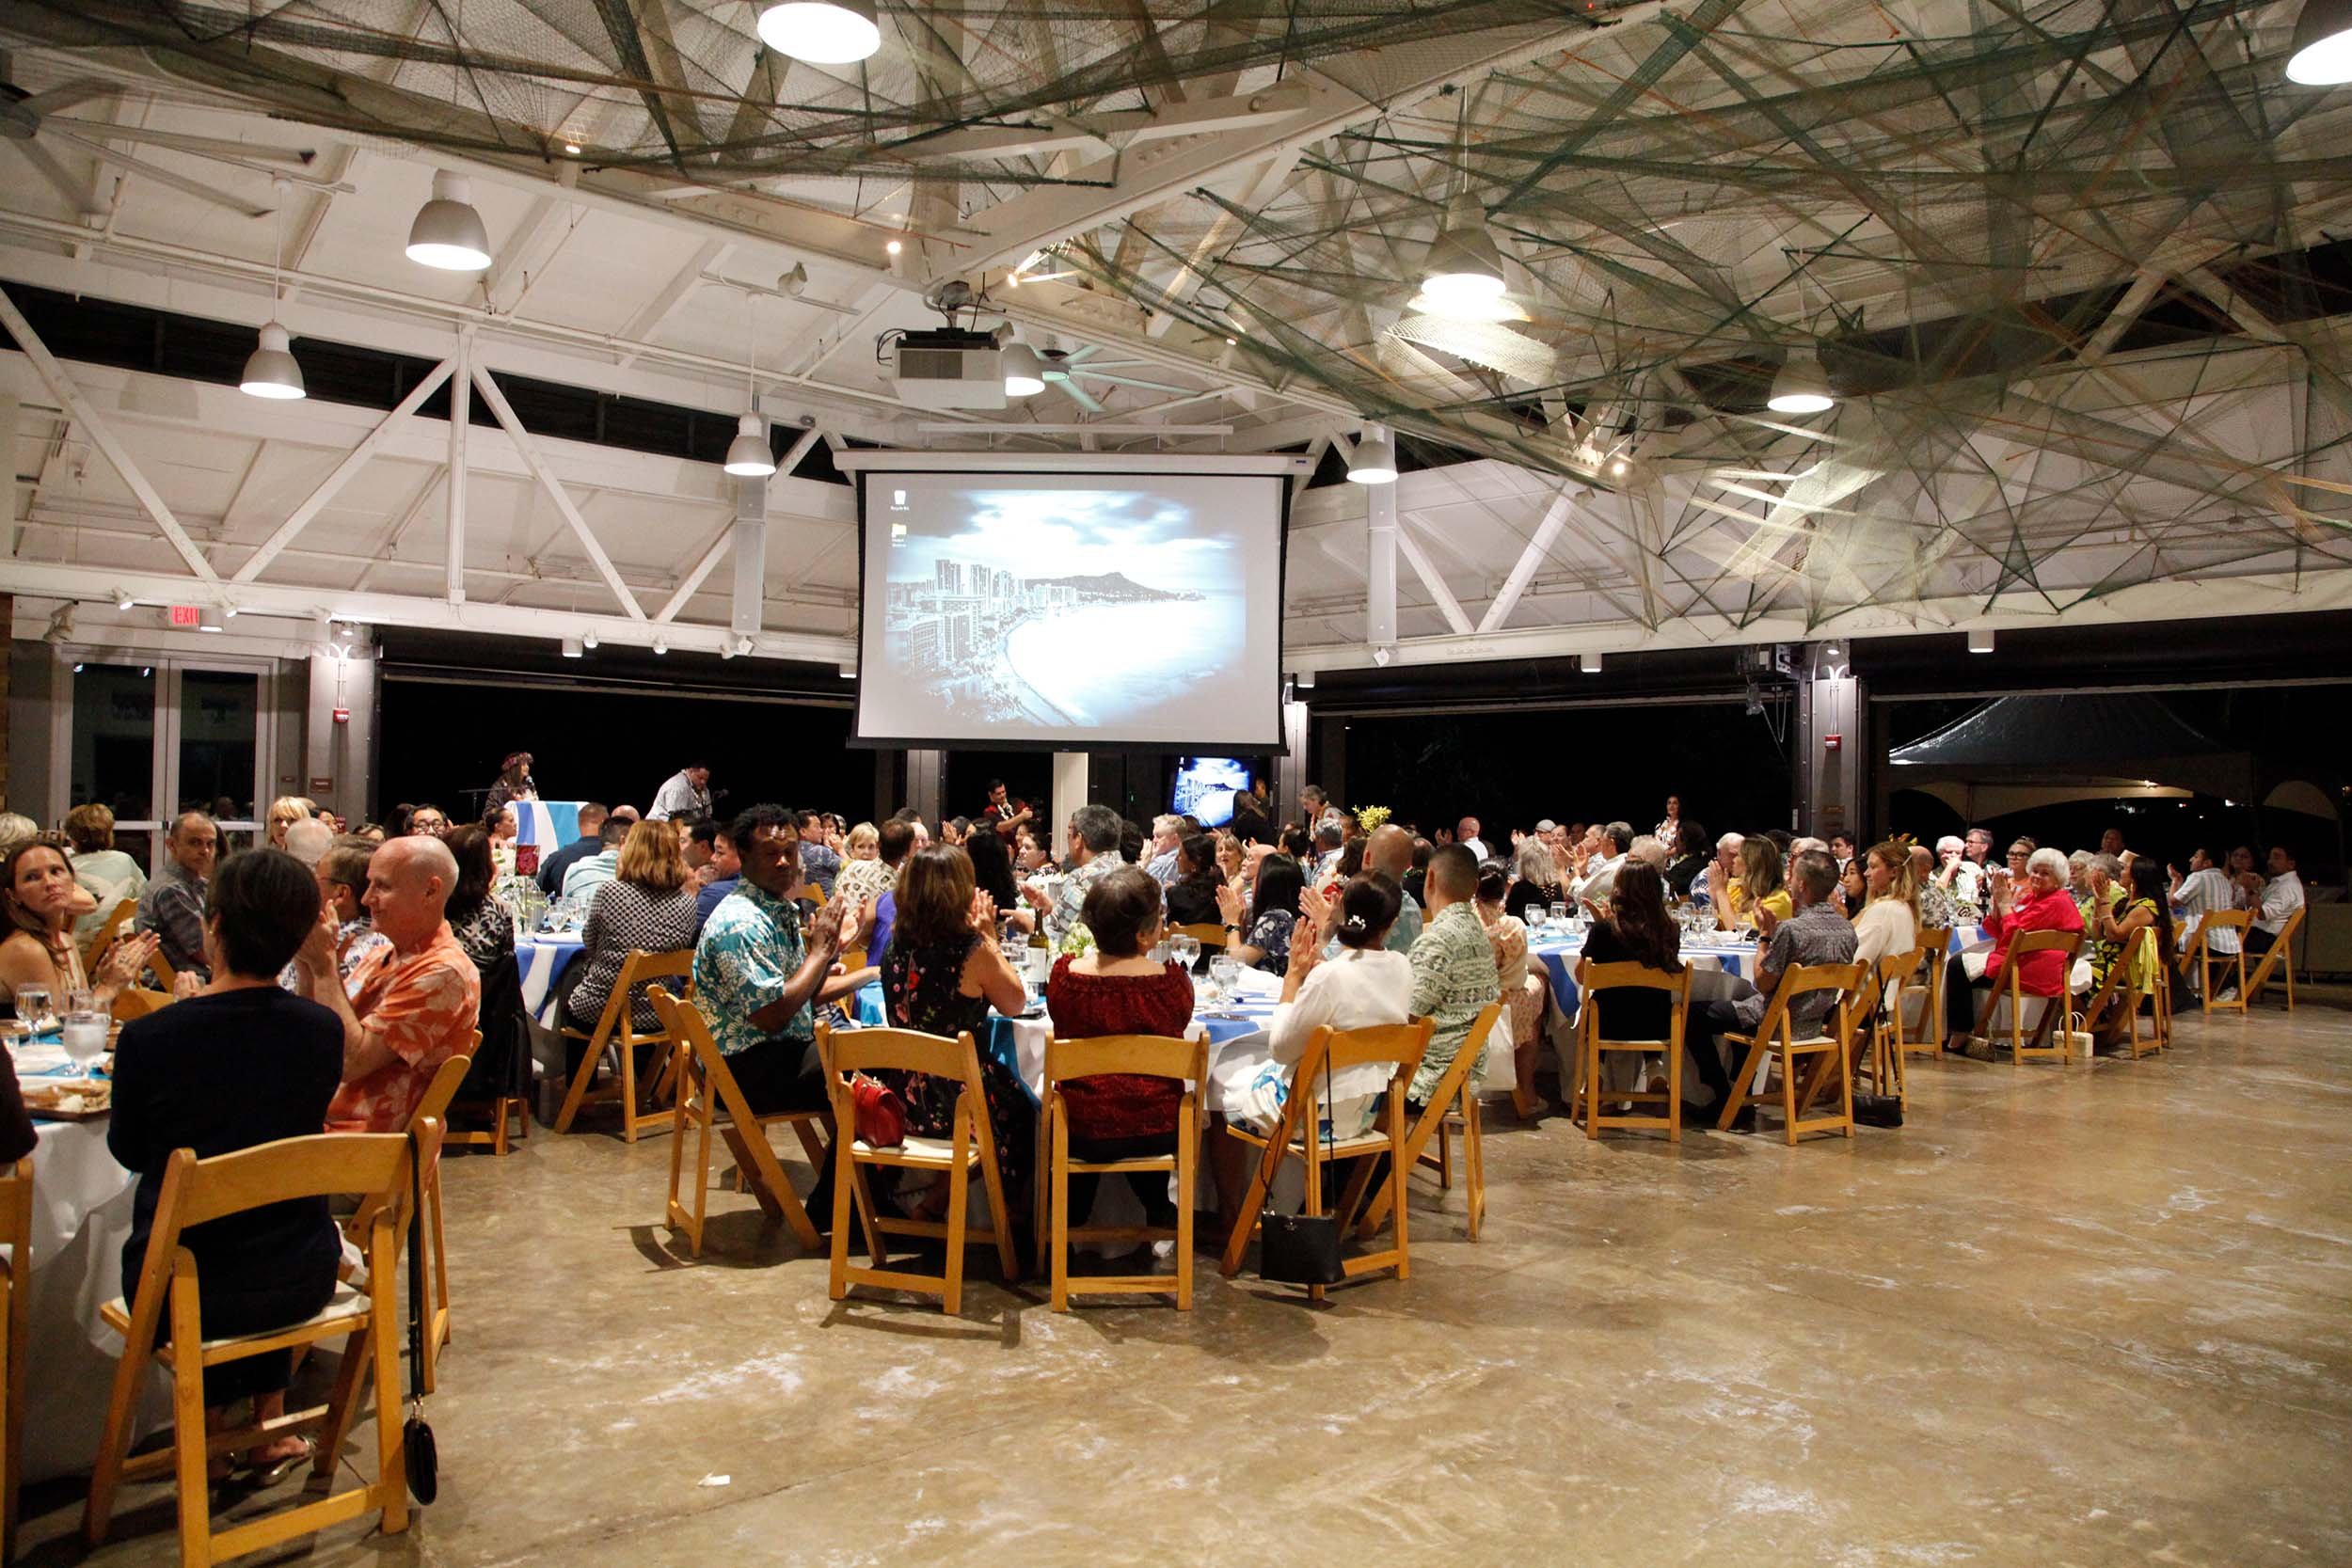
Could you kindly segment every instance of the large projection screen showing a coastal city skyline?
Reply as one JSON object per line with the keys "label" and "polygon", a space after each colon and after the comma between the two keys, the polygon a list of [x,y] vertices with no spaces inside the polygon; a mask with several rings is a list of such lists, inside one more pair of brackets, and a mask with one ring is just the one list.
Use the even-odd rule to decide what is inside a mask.
{"label": "large projection screen showing a coastal city skyline", "polygon": [[1282,475],[861,477],[861,743],[1282,748]]}

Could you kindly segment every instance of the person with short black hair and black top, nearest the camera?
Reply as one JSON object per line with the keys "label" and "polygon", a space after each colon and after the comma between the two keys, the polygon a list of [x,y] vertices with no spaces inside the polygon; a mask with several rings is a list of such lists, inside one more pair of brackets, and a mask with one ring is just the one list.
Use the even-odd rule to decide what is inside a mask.
{"label": "person with short black hair and black top, nearest the camera", "polygon": [[[327,1126],[327,1100],[343,1077],[343,1025],[318,1001],[278,985],[296,954],[313,983],[341,985],[334,931],[318,922],[318,879],[280,849],[247,849],[221,863],[205,910],[212,983],[195,997],[122,1025],[115,1046],[115,1112],[106,1147],[139,1173],[132,1234],[122,1244],[122,1293],[139,1291],[148,1232],[174,1150],[200,1159],[233,1154]],[[325,940],[313,940],[325,933]],[[301,1324],[334,1295],[341,1237],[327,1199],[294,1199],[209,1220],[181,1234],[195,1255],[205,1333],[263,1333]],[[162,1333],[169,1338],[169,1319]],[[228,1413],[254,1401],[254,1420],[285,1413],[294,1352],[275,1349],[205,1368],[205,1429],[228,1429]],[[289,1436],[245,1450],[263,1483],[285,1479],[310,1453]],[[230,1472],[212,1462],[214,1479]]]}

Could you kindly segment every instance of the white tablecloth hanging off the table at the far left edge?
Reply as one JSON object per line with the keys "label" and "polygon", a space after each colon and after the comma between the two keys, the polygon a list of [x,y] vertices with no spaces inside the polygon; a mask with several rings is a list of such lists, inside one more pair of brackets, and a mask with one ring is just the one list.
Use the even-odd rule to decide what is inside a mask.
{"label": "white tablecloth hanging off the table at the far left edge", "polygon": [[[16,1053],[16,1074],[40,1079],[66,1067],[54,1046]],[[136,1178],[106,1152],[106,1119],[40,1121],[33,1147],[31,1378],[26,1380],[24,1479],[87,1472],[106,1432],[120,1335],[99,1324],[99,1305],[122,1295],[122,1244],[132,1234]],[[136,1436],[165,1427],[172,1392],[148,1378]]]}

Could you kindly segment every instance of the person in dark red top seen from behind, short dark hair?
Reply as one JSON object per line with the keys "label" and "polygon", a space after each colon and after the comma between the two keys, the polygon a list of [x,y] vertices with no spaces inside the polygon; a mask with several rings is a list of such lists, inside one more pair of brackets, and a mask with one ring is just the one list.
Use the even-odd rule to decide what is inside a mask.
{"label": "person in dark red top seen from behind, short dark hair", "polygon": [[[1183,842],[1207,844],[1204,835]],[[1169,889],[1174,898],[1183,879]],[[1152,961],[1150,950],[1162,936],[1160,889],[1148,872],[1120,867],[1087,893],[1087,931],[1094,950],[1054,959],[1044,1006],[1054,1018],[1056,1039],[1094,1039],[1101,1034],[1164,1034],[1183,1039],[1192,1027],[1192,980],[1174,961]],[[1183,1084],[1174,1079],[1101,1074],[1070,1079],[1061,1086],[1070,1112],[1070,1157],[1082,1161],[1150,1159],[1176,1147],[1176,1103]],[[1160,1171],[1134,1171],[1127,1185],[1143,1204],[1148,1225],[1174,1225],[1176,1204]],[[1070,1178],[1070,1222],[1084,1225],[1094,1208],[1096,1178]]]}

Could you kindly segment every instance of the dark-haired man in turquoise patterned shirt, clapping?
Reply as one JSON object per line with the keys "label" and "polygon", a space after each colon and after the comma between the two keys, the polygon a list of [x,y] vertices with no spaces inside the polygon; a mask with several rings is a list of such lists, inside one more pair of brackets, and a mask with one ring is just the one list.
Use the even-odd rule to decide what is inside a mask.
{"label": "dark-haired man in turquoise patterned shirt, clapping", "polygon": [[[802,882],[800,825],[783,806],[743,811],[727,842],[743,858],[743,882],[710,912],[694,945],[694,1006],[755,1114],[818,1110],[826,1070],[814,1004],[856,985],[856,976],[833,973],[842,943],[856,936],[856,917],[833,900],[802,926],[793,903]],[[818,1187],[830,1173],[830,1166],[818,1173]],[[811,1194],[809,1213],[823,1227],[833,1208]]]}

